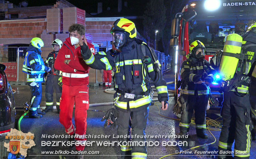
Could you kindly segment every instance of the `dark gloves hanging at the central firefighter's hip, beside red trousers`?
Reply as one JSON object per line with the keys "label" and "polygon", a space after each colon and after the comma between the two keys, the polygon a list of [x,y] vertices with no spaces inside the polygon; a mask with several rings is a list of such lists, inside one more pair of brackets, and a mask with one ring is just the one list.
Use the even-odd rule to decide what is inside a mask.
{"label": "dark gloves hanging at the central firefighter's hip, beside red trousers", "polygon": [[104,128],[107,128],[107,126],[111,126],[112,128],[115,128],[117,126],[117,115],[115,115],[115,108],[111,108],[107,110],[107,113],[103,116],[101,121],[105,121]]}

